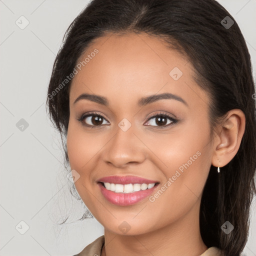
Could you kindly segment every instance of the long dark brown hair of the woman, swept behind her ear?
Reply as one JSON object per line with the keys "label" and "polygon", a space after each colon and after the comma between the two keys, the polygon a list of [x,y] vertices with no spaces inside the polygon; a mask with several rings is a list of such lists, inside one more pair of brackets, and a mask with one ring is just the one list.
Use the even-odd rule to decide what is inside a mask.
{"label": "long dark brown hair of the woman, swept behind her ear", "polygon": [[[58,86],[93,39],[129,32],[164,39],[191,62],[195,81],[210,95],[211,130],[230,109],[245,114],[238,152],[220,173],[211,165],[200,204],[204,243],[219,247],[226,256],[238,256],[247,241],[250,204],[256,193],[256,94],[245,40],[234,18],[217,1],[92,0],[80,12],[64,35],[47,92],[47,110],[61,134],[66,163],[71,80],[61,89]],[[220,228],[225,221],[234,226],[229,234]]]}

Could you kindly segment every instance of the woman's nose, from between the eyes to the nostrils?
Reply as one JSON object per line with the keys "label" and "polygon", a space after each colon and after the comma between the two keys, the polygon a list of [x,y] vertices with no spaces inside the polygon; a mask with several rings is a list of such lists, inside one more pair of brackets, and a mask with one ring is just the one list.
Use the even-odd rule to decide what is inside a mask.
{"label": "woman's nose, from between the eyes to the nostrils", "polygon": [[145,159],[145,145],[134,134],[133,126],[126,131],[117,127],[116,133],[104,147],[103,160],[118,168],[124,168],[129,164],[138,164]]}

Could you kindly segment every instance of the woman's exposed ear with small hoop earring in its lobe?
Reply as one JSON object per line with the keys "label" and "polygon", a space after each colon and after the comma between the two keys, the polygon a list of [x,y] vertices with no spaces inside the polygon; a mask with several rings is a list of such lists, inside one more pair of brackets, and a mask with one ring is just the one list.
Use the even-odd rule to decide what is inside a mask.
{"label": "woman's exposed ear with small hoop earring in its lobe", "polygon": [[[237,153],[245,129],[245,115],[241,109],[235,108],[228,111],[224,121],[217,128],[214,137],[213,166],[226,165]],[[219,159],[217,159],[217,157]]]}

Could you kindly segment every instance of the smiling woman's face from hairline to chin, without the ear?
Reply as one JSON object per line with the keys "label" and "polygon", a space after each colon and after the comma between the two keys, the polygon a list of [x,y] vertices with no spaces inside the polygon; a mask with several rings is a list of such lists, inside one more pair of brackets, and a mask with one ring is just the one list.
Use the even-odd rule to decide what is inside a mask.
{"label": "smiling woman's face from hairline to chin, without the ear", "polygon": [[[97,38],[77,63],[84,60],[70,87],[67,151],[85,205],[118,234],[142,234],[185,218],[197,223],[213,141],[209,98],[193,80],[190,62],[142,33]],[[83,93],[94,100],[77,99]],[[155,98],[162,93],[170,94]],[[98,182],[127,175],[156,185],[143,190],[147,186],[133,184],[149,181],[114,179],[108,183],[132,186],[106,189]],[[135,187],[140,191],[129,190]]]}

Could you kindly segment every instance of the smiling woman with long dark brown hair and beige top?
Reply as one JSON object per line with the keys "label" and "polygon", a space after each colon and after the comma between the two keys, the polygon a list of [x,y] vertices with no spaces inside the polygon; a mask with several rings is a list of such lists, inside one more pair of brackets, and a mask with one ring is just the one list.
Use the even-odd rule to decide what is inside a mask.
{"label": "smiling woman with long dark brown hair and beige top", "polygon": [[218,2],[91,1],[66,31],[47,105],[75,189],[104,226],[76,255],[240,255],[255,91]]}

